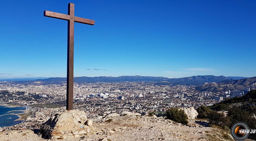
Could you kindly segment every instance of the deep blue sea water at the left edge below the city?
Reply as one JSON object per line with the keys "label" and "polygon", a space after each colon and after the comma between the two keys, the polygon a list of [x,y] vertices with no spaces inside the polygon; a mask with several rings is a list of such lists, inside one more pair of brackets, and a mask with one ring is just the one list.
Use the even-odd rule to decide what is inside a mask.
{"label": "deep blue sea water at the left edge below the city", "polygon": [[[6,107],[6,106],[0,106],[0,127],[6,127],[6,126],[13,126],[16,124],[20,124],[22,121],[16,119],[19,118],[19,116],[15,114],[23,113],[22,111],[13,111],[13,110],[25,110],[26,107]],[[12,111],[12,112],[9,112]],[[13,114],[11,114],[13,113]],[[6,114],[6,115],[5,115]]]}

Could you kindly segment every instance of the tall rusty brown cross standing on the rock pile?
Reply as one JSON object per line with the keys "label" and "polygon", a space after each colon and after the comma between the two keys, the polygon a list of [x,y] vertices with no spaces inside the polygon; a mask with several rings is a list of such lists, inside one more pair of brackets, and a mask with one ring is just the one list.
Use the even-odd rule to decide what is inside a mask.
{"label": "tall rusty brown cross standing on the rock pile", "polygon": [[44,11],[46,17],[67,21],[67,110],[73,109],[73,78],[74,78],[74,22],[94,25],[95,21],[74,16],[74,3],[68,4],[68,14]]}

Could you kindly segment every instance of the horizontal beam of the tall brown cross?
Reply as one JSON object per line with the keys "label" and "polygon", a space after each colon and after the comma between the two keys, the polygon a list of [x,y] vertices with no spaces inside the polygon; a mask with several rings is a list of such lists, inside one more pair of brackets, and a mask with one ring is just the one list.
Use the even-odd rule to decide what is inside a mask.
{"label": "horizontal beam of the tall brown cross", "polygon": [[[63,20],[66,20],[66,21],[68,21],[69,18],[70,18],[69,15],[61,14],[61,13],[57,13],[57,12],[51,12],[51,11],[47,11],[47,10],[45,10],[43,12],[43,16],[52,17],[52,18],[56,18],[56,19],[63,19]],[[94,20],[85,19],[85,18],[76,17],[76,16],[74,16],[74,22],[84,23],[84,24],[87,24],[87,25],[94,25],[95,24]]]}

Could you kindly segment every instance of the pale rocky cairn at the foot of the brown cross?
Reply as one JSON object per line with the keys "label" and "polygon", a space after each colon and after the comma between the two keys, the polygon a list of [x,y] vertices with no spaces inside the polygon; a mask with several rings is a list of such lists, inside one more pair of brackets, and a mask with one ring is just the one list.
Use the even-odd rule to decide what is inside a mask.
{"label": "pale rocky cairn at the foot of the brown cross", "polygon": [[50,117],[41,128],[41,135],[48,139],[65,139],[87,135],[93,121],[86,118],[84,111],[76,109],[58,112]]}

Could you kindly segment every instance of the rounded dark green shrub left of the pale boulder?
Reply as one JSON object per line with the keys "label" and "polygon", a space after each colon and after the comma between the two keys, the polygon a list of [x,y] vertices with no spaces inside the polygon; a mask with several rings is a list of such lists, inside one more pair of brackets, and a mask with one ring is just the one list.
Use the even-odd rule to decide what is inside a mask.
{"label": "rounded dark green shrub left of the pale boulder", "polygon": [[175,122],[181,123],[181,124],[188,124],[188,116],[187,114],[178,108],[170,108],[165,111],[167,114],[167,118],[170,120],[173,120]]}

